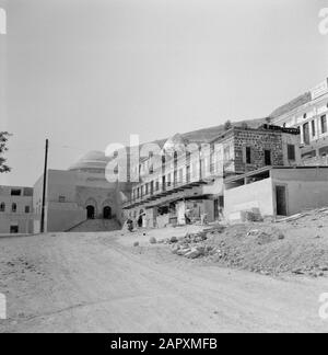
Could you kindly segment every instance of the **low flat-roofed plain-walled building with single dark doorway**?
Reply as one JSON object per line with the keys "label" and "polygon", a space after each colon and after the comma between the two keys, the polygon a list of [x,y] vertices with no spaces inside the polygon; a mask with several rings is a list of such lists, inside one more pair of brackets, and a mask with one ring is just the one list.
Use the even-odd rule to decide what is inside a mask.
{"label": "low flat-roofed plain-walled building with single dark doorway", "polygon": [[225,216],[244,221],[245,214],[291,216],[327,207],[328,167],[269,167],[225,181]]}

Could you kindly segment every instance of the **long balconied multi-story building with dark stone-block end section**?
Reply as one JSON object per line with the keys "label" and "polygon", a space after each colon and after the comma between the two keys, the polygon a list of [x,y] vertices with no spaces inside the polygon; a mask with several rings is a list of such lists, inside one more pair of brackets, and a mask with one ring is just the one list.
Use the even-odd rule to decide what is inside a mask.
{"label": "long balconied multi-story building with dark stone-block end section", "polygon": [[[180,135],[161,151],[149,151],[138,167],[140,181],[124,204],[126,218],[162,227],[207,215],[213,221],[224,210],[224,180],[263,167],[291,167],[301,161],[300,131],[263,125],[233,127],[218,137],[190,144]],[[136,171],[134,171],[136,173]]]}

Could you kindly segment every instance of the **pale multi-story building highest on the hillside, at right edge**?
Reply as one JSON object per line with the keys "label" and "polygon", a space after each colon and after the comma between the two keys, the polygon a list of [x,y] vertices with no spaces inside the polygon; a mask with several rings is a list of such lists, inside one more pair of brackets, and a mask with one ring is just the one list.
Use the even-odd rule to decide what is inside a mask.
{"label": "pale multi-story building highest on the hillside, at right edge", "polygon": [[273,125],[298,127],[303,164],[328,165],[328,79],[277,108]]}

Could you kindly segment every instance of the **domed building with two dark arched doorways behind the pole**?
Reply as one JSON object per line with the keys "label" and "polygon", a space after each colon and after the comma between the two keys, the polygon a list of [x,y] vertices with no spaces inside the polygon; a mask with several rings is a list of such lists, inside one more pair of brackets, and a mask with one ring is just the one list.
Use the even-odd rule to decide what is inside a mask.
{"label": "domed building with two dark arched doorways behind the pole", "polygon": [[[113,219],[121,224],[121,203],[127,184],[109,183],[105,169],[109,159],[91,151],[69,170],[48,170],[45,225],[47,231],[67,231],[87,219]],[[33,187],[34,231],[40,229],[42,175]]]}

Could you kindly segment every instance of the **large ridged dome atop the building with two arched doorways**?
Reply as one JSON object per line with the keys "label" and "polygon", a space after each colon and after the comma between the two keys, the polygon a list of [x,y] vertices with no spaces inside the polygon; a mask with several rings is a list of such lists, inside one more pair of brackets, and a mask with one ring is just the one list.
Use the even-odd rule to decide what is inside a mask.
{"label": "large ridged dome atop the building with two arched doorways", "polygon": [[106,157],[104,151],[93,150],[79,159],[69,170],[104,173],[109,161],[110,158]]}

